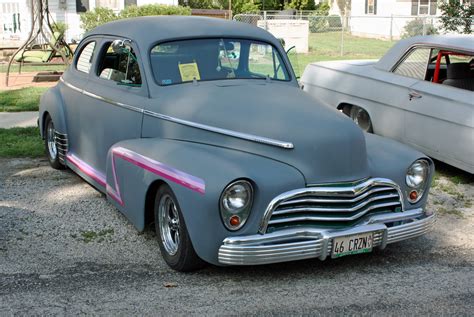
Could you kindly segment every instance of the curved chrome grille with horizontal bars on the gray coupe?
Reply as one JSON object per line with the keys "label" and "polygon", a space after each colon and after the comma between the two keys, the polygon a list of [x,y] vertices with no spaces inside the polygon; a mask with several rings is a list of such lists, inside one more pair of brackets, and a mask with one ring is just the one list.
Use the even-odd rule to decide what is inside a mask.
{"label": "curved chrome grille with horizontal bars on the gray coupe", "polygon": [[345,227],[368,214],[402,210],[400,189],[388,179],[318,185],[276,197],[265,213],[260,232],[303,225]]}

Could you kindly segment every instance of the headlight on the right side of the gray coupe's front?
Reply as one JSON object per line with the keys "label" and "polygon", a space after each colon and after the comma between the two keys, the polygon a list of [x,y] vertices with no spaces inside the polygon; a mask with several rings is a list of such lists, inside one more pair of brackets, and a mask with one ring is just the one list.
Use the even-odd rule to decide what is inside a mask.
{"label": "headlight on the right side of the gray coupe's front", "polygon": [[426,182],[428,180],[429,163],[427,160],[416,160],[407,170],[405,182],[410,188],[408,192],[408,201],[412,204],[417,203],[426,188]]}

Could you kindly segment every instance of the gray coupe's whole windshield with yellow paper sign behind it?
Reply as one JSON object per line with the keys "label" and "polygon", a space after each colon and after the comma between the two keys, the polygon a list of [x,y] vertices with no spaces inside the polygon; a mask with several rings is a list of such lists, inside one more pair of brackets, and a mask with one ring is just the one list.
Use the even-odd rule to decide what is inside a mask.
{"label": "gray coupe's whole windshield with yellow paper sign behind it", "polygon": [[151,50],[159,85],[222,79],[289,81],[288,70],[272,45],[242,39],[194,39],[161,43]]}

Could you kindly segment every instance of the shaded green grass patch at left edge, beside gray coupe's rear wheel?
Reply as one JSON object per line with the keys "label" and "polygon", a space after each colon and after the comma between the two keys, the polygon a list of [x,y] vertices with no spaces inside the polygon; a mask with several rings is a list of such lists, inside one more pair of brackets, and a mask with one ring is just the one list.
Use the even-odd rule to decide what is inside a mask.
{"label": "shaded green grass patch at left edge, beside gray coupe's rear wheel", "polygon": [[38,128],[0,129],[0,157],[44,156],[43,140]]}

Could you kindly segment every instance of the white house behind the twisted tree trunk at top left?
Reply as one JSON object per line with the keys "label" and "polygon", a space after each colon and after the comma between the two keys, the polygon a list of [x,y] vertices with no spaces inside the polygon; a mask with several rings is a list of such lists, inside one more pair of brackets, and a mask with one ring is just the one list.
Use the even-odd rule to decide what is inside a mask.
{"label": "white house behind the twisted tree trunk at top left", "polygon": [[[17,45],[25,40],[31,27],[31,1],[0,0],[0,46]],[[119,12],[125,6],[144,4],[177,5],[178,0],[49,0],[48,7],[54,21],[67,24],[66,40],[78,40],[83,34],[79,14],[95,7],[107,7]]]}

